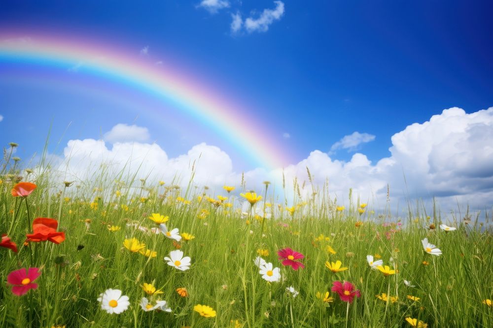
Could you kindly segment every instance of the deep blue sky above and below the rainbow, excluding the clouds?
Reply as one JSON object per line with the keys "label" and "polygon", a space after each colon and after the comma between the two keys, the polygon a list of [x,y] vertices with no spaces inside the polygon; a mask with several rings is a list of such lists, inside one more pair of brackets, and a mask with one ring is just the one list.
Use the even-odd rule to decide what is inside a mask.
{"label": "deep blue sky above and below the rainbow, excluding the clouds", "polygon": [[[136,53],[148,46],[150,60],[178,60],[247,104],[252,117],[272,122],[293,164],[315,149],[329,152],[355,131],[375,138],[331,158],[349,161],[358,150],[375,163],[390,155],[390,137],[412,123],[454,106],[473,113],[493,105],[491,1],[284,0],[267,30],[247,30],[246,18],[276,10],[279,1],[215,1],[223,3],[215,12],[200,2],[3,1],[0,30],[63,31]],[[237,32],[234,14],[244,22]],[[10,68],[0,63],[2,69]],[[9,76],[0,74],[0,138],[21,143],[25,155],[40,150],[50,123],[50,148],[61,139],[59,151],[69,139],[97,139],[117,123],[136,123],[170,157],[206,141],[230,154],[235,168],[249,169],[241,154],[201,126],[187,136],[179,119],[157,123],[135,104]],[[158,106],[145,97],[141,102]],[[16,134],[21,122],[35,132]],[[173,135],[181,141],[170,142]]]}

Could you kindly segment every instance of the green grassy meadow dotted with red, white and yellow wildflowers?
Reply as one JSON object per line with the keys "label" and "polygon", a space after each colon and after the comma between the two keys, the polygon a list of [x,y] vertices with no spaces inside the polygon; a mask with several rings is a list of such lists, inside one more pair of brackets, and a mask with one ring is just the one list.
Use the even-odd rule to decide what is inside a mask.
{"label": "green grassy meadow dotted with red, white and yellow wildflowers", "polygon": [[0,162],[0,327],[493,327],[491,209],[19,167]]}

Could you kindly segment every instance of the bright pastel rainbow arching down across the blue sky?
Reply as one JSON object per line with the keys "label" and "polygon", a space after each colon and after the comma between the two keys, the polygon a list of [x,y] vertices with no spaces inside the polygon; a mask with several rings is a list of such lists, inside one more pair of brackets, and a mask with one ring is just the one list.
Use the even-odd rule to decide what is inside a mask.
{"label": "bright pastel rainbow arching down across the blue sky", "polygon": [[279,138],[270,134],[272,129],[262,128],[260,119],[249,117],[247,108],[226,100],[217,91],[207,90],[196,77],[177,72],[169,62],[156,67],[129,53],[94,40],[0,34],[0,65],[67,71],[83,63],[78,74],[130,87],[171,105],[176,115],[195,120],[227,141],[250,165],[269,170],[289,163],[287,152],[275,142]]}

